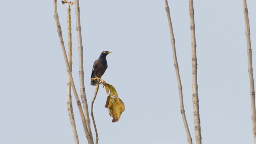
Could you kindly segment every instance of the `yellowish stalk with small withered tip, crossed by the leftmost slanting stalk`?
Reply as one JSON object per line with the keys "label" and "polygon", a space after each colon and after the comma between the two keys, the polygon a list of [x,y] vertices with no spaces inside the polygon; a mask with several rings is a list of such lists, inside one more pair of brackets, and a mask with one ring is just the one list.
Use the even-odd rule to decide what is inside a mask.
{"label": "yellowish stalk with small withered tip, crossed by the leftmost slanting stalk", "polygon": [[[68,2],[68,62],[70,66],[70,70],[72,72],[72,33],[71,33],[71,16],[70,16],[70,6],[72,2]],[[72,127],[72,132],[74,136],[75,144],[79,144],[78,135],[76,131],[76,122],[74,119],[73,106],[72,106],[72,97],[71,97],[71,82],[68,77],[68,96],[67,96],[67,104],[68,104],[68,116]]]}

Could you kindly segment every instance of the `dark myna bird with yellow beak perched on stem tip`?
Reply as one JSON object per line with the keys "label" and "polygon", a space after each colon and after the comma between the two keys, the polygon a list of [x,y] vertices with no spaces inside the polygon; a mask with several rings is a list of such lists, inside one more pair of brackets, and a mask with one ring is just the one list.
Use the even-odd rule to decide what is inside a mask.
{"label": "dark myna bird with yellow beak perched on stem tip", "polygon": [[[92,76],[91,78],[101,78],[106,69],[108,68],[108,63],[106,56],[110,54],[111,52],[103,51],[100,54],[100,58],[98,60],[95,60],[93,67],[92,67]],[[97,83],[97,80],[91,80],[91,85],[95,86]]]}

